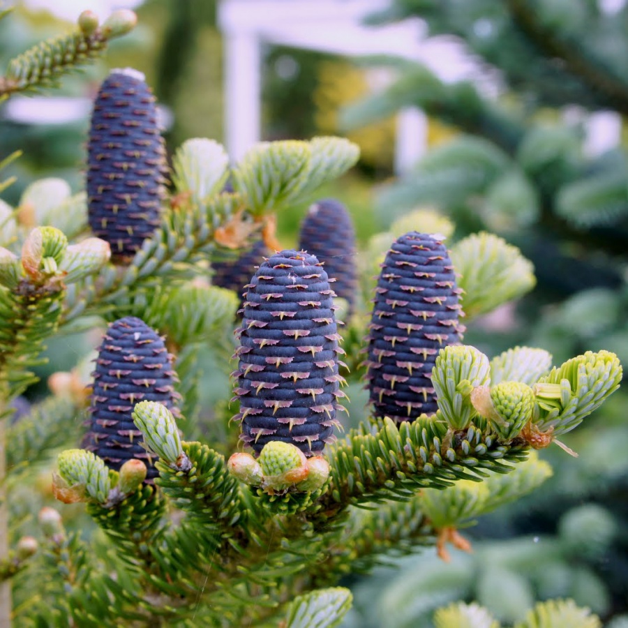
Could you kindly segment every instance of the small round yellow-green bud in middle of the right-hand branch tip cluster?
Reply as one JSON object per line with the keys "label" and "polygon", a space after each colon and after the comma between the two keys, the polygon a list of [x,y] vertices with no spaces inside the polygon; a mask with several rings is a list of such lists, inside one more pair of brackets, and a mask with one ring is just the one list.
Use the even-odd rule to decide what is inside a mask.
{"label": "small round yellow-green bud in middle of the right-hand branch tip cluster", "polygon": [[491,388],[493,408],[499,415],[488,417],[491,426],[505,440],[512,440],[532,417],[534,392],[522,382],[501,382]]}

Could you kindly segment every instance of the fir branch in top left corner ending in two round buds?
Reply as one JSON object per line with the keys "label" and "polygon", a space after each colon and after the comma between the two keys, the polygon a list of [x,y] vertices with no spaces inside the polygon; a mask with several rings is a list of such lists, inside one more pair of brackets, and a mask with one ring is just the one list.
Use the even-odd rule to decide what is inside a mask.
{"label": "fir branch in top left corner ending in two round buds", "polygon": [[9,62],[0,77],[0,96],[57,84],[63,74],[100,57],[110,39],[125,35],[136,22],[135,13],[118,10],[99,26],[98,17],[84,11],[77,31],[38,43]]}

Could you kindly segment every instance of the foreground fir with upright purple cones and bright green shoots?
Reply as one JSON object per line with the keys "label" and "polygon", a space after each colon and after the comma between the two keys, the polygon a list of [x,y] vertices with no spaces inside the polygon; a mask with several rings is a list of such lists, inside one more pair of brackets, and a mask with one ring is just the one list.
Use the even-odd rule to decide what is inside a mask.
{"label": "foreground fir with upright purple cones and bright green shoots", "polygon": [[[43,87],[134,24],[128,11],[102,25],[84,13],[76,32],[11,63],[0,91]],[[421,232],[402,220],[362,252],[367,274],[384,263],[371,327],[368,312],[352,316],[345,350],[335,315],[343,300],[334,302],[314,255],[276,247],[276,225],[355,165],[357,147],[339,137],[264,142],[230,165],[220,144],[193,138],[165,172],[152,105],[135,70],[112,73],[94,107],[87,195],[45,179],[29,190],[28,212],[3,207],[0,624],[337,626],[352,604],[337,586],[343,576],[423,546],[447,559],[450,546],[469,548],[461,527],[539,488],[551,468],[532,449],[561,444],[607,401],[620,360],[587,351],[552,368],[544,350],[489,360],[461,345],[461,309],[472,320],[528,292],[534,276],[495,235],[448,252],[442,231],[453,225],[429,213],[412,216]],[[247,281],[234,330],[241,295],[211,285],[209,265],[219,250],[260,240],[280,252]],[[9,421],[45,343],[77,330],[98,336],[96,356],[77,356],[73,371],[50,378],[51,395]],[[216,408],[200,412],[217,375],[203,375],[200,354],[225,372],[232,350],[232,406],[224,387]],[[390,375],[367,380],[371,399],[381,389],[406,414],[353,408],[357,428],[334,442],[348,403],[341,388],[362,383],[339,357],[350,352],[354,364],[361,351],[369,377],[380,356]],[[238,440],[255,456],[237,451]],[[67,505],[54,509],[53,498]],[[581,548],[587,525],[603,518],[565,521],[565,547]],[[590,555],[614,533],[601,532]],[[438,574],[427,577],[438,585]],[[465,618],[495,625],[474,605],[444,608],[436,621]],[[518,619],[522,628],[598,625],[572,600]]]}

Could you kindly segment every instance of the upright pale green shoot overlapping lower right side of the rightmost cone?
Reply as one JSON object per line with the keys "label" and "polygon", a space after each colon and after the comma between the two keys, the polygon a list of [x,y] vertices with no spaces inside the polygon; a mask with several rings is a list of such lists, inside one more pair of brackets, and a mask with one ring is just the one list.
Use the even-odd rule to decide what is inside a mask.
{"label": "upright pale green shoot overlapping lower right side of the rightmost cone", "polygon": [[470,345],[449,345],[440,350],[432,371],[436,403],[454,430],[468,428],[477,411],[471,403],[473,388],[488,384],[488,358]]}

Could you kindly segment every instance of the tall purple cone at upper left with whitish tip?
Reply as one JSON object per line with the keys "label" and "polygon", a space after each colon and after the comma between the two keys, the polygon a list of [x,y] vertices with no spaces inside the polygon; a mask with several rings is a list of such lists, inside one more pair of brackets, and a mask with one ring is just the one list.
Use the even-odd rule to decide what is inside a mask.
{"label": "tall purple cone at upper left with whitish tip", "polygon": [[112,256],[135,255],[160,222],[165,148],[144,75],[112,70],[98,90],[87,144],[89,226]]}

